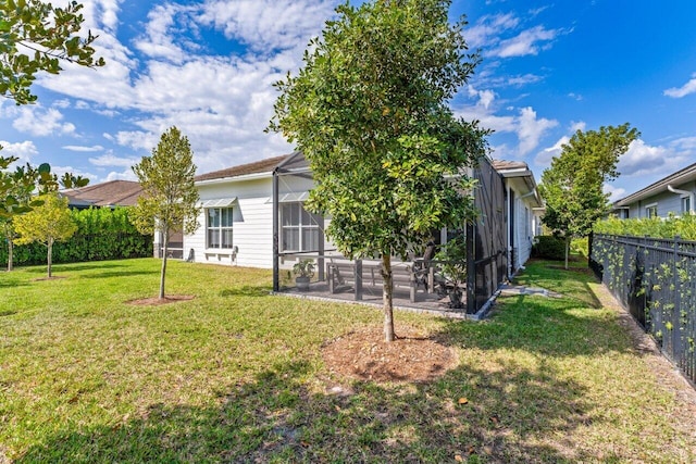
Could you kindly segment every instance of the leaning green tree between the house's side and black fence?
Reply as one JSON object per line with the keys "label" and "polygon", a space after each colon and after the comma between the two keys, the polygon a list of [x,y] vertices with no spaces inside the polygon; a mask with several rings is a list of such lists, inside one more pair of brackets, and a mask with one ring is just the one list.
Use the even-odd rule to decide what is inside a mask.
{"label": "leaning green tree between the house's side and black fence", "polygon": [[609,213],[604,185],[619,176],[619,156],[639,136],[629,123],[577,130],[542,174],[539,190],[546,203],[542,221],[564,239],[566,268],[572,238],[588,236],[592,226]]}

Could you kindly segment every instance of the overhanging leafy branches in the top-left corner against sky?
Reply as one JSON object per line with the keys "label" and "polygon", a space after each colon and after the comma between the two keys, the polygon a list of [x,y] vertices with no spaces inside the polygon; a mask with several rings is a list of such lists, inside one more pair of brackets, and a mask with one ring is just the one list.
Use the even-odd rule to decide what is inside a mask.
{"label": "overhanging leafy branches in the top-left corner against sky", "polygon": [[39,0],[0,2],[0,96],[17,104],[36,101],[30,87],[36,74],[58,74],[61,61],[103,66],[91,47],[97,36],[78,35],[83,5],[71,1],[57,8]]}

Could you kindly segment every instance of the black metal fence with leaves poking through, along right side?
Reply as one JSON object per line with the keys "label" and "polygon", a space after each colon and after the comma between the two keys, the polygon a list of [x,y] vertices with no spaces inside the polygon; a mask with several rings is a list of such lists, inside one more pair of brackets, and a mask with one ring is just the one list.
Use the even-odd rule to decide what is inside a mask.
{"label": "black metal fence with leaves poking through, along right side", "polygon": [[696,241],[595,234],[589,265],[696,381]]}

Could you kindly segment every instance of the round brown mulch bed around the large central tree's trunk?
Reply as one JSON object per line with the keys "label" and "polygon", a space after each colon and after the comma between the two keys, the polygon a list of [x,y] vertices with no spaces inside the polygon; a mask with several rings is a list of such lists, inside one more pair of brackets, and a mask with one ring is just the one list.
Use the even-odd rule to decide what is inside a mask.
{"label": "round brown mulch bed around the large central tree's trunk", "polygon": [[452,348],[410,327],[399,327],[397,334],[387,343],[382,327],[350,331],[324,346],[324,362],[332,373],[376,383],[428,381],[457,365]]}

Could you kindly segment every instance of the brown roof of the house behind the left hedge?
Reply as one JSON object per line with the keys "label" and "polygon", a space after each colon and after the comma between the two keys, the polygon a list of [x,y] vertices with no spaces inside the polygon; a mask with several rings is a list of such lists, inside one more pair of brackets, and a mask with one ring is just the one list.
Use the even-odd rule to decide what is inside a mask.
{"label": "brown roof of the house behind the left hedge", "polygon": [[132,206],[142,193],[139,183],[110,180],[87,187],[63,190],[72,206]]}

